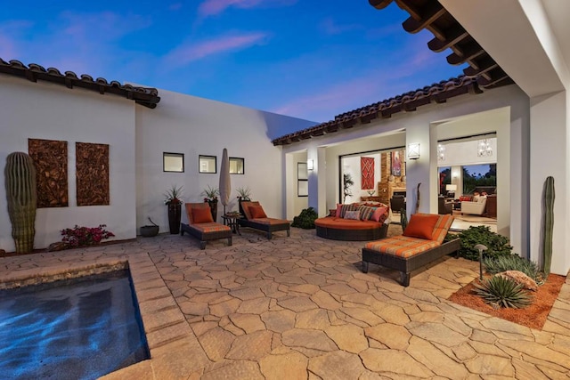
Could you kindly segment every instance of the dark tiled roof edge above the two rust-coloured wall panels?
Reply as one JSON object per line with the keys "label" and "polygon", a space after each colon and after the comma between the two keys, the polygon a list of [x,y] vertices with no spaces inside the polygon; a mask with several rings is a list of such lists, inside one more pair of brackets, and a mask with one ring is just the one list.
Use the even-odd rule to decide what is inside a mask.
{"label": "dark tiled roof edge above the two rust-coloured wall panels", "polygon": [[28,67],[20,61],[12,60],[6,62],[0,58],[0,73],[13,77],[23,77],[31,82],[45,80],[68,88],[81,87],[98,93],[114,93],[126,99],[135,101],[142,106],[154,109],[160,101],[159,90],[150,87],[136,87],[133,85],[121,85],[117,81],[110,83],[102,77],[94,79],[86,74],[77,77],[73,71],[66,71],[61,74],[60,70],[49,68],[44,69],[36,63],[30,63]]}

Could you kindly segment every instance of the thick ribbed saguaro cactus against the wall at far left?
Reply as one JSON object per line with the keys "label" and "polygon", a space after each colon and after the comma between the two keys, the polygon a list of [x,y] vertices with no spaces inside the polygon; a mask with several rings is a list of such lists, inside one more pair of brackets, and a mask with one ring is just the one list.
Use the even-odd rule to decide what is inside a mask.
{"label": "thick ribbed saguaro cactus against the wall at far left", "polygon": [[36,235],[36,169],[27,153],[14,152],[8,155],[4,180],[16,253],[32,252]]}

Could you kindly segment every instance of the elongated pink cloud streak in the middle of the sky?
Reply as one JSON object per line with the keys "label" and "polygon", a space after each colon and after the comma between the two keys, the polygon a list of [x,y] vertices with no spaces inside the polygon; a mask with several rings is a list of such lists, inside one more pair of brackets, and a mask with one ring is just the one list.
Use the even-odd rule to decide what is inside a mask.
{"label": "elongated pink cloud streak in the middle of the sky", "polygon": [[240,36],[224,36],[199,44],[182,44],[168,53],[166,60],[171,65],[181,66],[210,55],[241,50],[255,44],[263,44],[266,37],[265,33],[252,33]]}

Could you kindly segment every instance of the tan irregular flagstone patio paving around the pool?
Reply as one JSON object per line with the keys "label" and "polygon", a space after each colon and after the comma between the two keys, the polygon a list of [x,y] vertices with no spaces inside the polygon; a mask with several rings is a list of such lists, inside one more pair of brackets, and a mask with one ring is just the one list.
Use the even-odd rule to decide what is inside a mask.
{"label": "tan irregular flagstone patio paving around the pool", "polygon": [[205,250],[159,235],[0,258],[0,279],[128,262],[151,360],[106,379],[569,378],[570,281],[538,331],[447,301],[478,263],[443,258],[404,288],[362,273],[362,246],[298,229]]}

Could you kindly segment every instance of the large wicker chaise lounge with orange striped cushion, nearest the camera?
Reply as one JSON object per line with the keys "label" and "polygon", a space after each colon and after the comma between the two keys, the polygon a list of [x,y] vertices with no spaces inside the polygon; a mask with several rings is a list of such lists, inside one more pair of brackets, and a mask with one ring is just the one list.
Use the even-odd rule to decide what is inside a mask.
{"label": "large wicker chaise lounge with orange striped cushion, nearest the camera", "polygon": [[400,271],[400,281],[408,287],[411,271],[459,251],[460,239],[444,243],[452,222],[451,214],[411,215],[403,235],[371,241],[362,248],[362,271],[368,273],[369,263]]}

